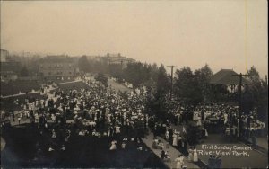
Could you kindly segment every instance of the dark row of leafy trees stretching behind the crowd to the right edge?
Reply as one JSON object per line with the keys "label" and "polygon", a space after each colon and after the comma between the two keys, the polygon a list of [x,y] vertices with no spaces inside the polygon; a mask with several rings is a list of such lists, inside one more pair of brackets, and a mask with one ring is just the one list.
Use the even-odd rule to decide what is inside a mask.
{"label": "dark row of leafy trees stretching behind the crowd to the right edge", "polygon": [[[133,84],[134,88],[145,86],[149,102],[160,106],[161,102],[170,100],[171,80],[166,68],[161,65],[141,62],[128,63],[126,67],[120,64],[108,65],[99,61],[89,61],[86,57],[79,59],[79,67],[85,72],[103,73],[116,77],[119,82]],[[259,107],[268,110],[268,84],[262,79],[255,67],[250,67],[246,78],[251,82],[245,86],[242,93],[243,103],[249,108]],[[229,86],[221,84],[209,84],[213,76],[212,69],[206,64],[196,70],[190,67],[182,67],[175,70],[173,77],[173,100],[186,104],[210,103],[210,102],[238,102],[238,93],[232,93]],[[154,107],[154,105],[152,105]],[[154,110],[162,110],[156,108]],[[164,110],[167,111],[167,110]]]}

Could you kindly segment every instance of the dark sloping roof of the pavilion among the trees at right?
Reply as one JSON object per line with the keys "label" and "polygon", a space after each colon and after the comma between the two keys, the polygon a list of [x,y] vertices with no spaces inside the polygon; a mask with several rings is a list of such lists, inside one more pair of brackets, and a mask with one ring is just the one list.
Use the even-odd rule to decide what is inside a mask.
{"label": "dark sloping roof of the pavilion among the trees at right", "polygon": [[[235,76],[238,75],[238,76]],[[215,75],[211,77],[210,84],[236,84],[239,85],[239,74],[232,69],[221,69]],[[250,84],[247,79],[242,77],[242,84]]]}

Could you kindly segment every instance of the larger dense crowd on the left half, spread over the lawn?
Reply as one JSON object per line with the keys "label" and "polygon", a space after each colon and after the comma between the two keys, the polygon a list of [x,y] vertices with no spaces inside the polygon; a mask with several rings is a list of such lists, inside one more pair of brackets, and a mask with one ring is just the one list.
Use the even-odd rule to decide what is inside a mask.
{"label": "larger dense crowd on the left half, spread over the lawn", "polygon": [[19,124],[27,119],[33,126],[38,124],[48,151],[65,150],[72,134],[111,138],[110,150],[126,148],[128,141],[142,142],[149,119],[144,95],[116,93],[96,81],[85,83],[88,86],[81,90],[57,89],[44,100],[26,100],[17,114]]}

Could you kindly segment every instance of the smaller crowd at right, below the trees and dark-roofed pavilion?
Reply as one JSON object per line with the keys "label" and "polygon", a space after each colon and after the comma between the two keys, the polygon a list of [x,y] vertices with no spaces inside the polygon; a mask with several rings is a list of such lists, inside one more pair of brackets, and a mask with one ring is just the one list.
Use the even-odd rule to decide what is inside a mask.
{"label": "smaller crowd at right, below the trees and dark-roofed pavilion", "polygon": [[[172,102],[169,107],[171,108],[167,115],[169,123],[173,123],[175,126],[178,124],[191,125],[199,129],[199,132],[196,132],[196,134],[199,133],[199,136],[190,137],[187,140],[192,146],[199,139],[207,138],[211,133],[222,133],[231,139],[249,140],[256,145],[256,137],[261,135],[265,129],[265,122],[258,120],[256,109],[249,113],[242,112],[239,117],[239,106],[230,104],[213,103],[194,106]],[[239,129],[239,123],[241,123],[241,129]],[[169,139],[174,138],[173,136],[177,135],[177,132],[172,133],[169,129],[161,129],[161,134],[166,135]],[[182,135],[186,135],[187,132],[189,135],[188,129],[183,127],[179,131],[178,138],[181,139]]]}

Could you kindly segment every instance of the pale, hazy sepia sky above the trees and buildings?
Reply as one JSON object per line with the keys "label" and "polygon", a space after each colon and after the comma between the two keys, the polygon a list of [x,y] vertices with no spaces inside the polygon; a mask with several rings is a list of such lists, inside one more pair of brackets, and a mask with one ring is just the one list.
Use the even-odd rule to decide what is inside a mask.
{"label": "pale, hazy sepia sky above the trees and buildings", "polygon": [[1,49],[268,70],[266,0],[1,1]]}

